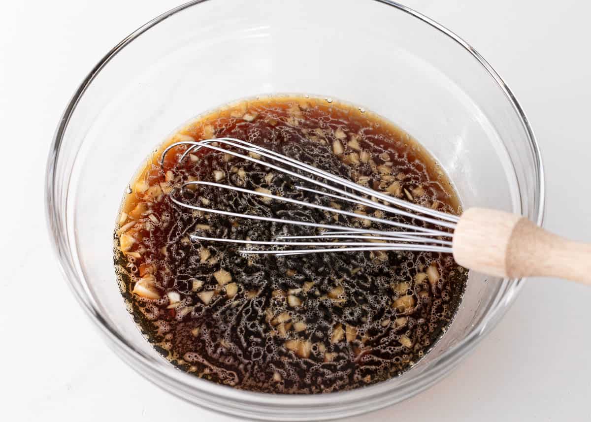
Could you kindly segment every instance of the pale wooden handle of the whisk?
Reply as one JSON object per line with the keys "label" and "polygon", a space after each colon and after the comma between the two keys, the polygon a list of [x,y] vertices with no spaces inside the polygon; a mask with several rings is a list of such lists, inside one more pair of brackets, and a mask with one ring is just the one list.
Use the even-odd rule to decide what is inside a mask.
{"label": "pale wooden handle of the whisk", "polygon": [[591,284],[591,245],[569,241],[504,211],[469,208],[453,235],[463,267],[501,277],[560,277]]}

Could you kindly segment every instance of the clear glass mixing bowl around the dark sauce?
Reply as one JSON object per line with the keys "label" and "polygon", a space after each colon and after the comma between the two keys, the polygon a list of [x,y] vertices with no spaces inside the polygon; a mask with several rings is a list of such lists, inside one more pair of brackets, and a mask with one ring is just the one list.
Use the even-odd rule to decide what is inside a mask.
{"label": "clear glass mixing bowl around the dark sauce", "polygon": [[505,314],[521,281],[471,272],[456,319],[410,371],[319,395],[239,391],[178,371],[139,334],[119,294],[112,231],[139,163],[192,116],[278,92],[334,96],[377,112],[433,153],[466,207],[541,223],[543,171],[527,119],[492,67],[446,28],[386,0],[193,1],[109,51],[59,122],[46,194],[61,267],[115,352],[197,405],[242,417],[321,420],[394,404],[465,358]]}

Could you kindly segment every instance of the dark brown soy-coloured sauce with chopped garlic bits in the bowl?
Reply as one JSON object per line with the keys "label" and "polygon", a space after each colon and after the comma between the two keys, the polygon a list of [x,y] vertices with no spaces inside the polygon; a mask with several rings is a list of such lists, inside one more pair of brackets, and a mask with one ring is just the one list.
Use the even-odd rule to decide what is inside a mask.
{"label": "dark brown soy-coloured sauce with chopped garlic bits in the bowl", "polygon": [[[262,145],[393,197],[460,212],[452,184],[433,158],[409,135],[363,109],[330,99],[273,96],[195,119],[132,180],[115,233],[119,286],[154,348],[201,378],[275,393],[362,387],[400,375],[424,356],[451,322],[465,289],[467,270],[451,255],[244,255],[238,250],[245,245],[190,238],[267,241],[322,229],[191,210],[171,196],[212,209],[355,228],[393,229],[368,215],[423,226],[420,220],[294,189],[303,182],[224,152],[202,148],[179,163],[187,147],[175,147],[164,166],[159,163],[172,142],[221,137]],[[180,189],[195,180],[359,217],[219,187]]]}

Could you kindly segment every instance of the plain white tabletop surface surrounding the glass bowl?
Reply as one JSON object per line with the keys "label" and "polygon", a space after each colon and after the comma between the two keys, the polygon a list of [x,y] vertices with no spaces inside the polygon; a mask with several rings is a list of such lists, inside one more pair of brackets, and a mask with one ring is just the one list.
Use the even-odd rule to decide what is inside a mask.
{"label": "plain white tabletop surface surrounding the glass bowl", "polygon": [[[70,96],[106,51],[178,1],[2,4],[2,420],[236,420],[168,395],[103,344],[61,279],[44,217],[47,152]],[[406,4],[465,38],[512,87],[545,159],[545,227],[591,241],[591,3]],[[582,285],[528,281],[501,324],[452,375],[348,422],[591,420],[590,300],[591,288]]]}

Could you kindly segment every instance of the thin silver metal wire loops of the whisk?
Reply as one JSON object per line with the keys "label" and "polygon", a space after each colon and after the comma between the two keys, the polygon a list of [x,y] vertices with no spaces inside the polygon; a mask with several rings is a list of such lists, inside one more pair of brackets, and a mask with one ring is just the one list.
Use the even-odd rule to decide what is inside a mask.
{"label": "thin silver metal wire loops of the whisk", "polygon": [[[252,152],[252,155],[244,155],[239,152],[221,148],[219,145],[228,145],[229,147],[237,148],[238,150]],[[197,151],[200,148],[209,148],[211,150],[223,152],[225,154],[233,155],[234,157],[243,158],[245,160],[264,165],[265,167],[272,168],[280,171],[281,173],[288,174],[294,178],[307,181],[311,184],[315,184],[321,188],[324,188],[334,193],[327,191],[320,191],[316,189],[310,189],[304,186],[295,186],[295,189],[309,191],[317,195],[331,197],[343,202],[349,202],[354,204],[362,204],[364,206],[379,209],[384,212],[394,213],[397,215],[407,216],[413,219],[422,220],[423,222],[430,223],[431,225],[440,226],[447,229],[452,229],[451,232],[443,231],[439,229],[425,228],[421,226],[414,226],[407,223],[400,223],[392,220],[382,219],[374,216],[359,215],[358,213],[349,212],[346,210],[337,209],[336,207],[328,207],[319,204],[313,204],[310,202],[300,201],[287,197],[277,196],[270,193],[261,191],[254,191],[249,189],[243,189],[241,187],[229,186],[226,184],[213,183],[209,181],[189,181],[181,186],[183,190],[187,186],[191,185],[202,185],[218,187],[219,189],[239,191],[246,194],[252,194],[255,196],[262,196],[272,200],[279,200],[282,202],[288,202],[298,204],[313,209],[320,209],[327,212],[336,213],[339,215],[350,216],[353,218],[366,219],[369,221],[381,223],[396,227],[398,229],[405,229],[405,231],[384,231],[375,229],[365,228],[354,228],[345,227],[339,225],[329,225],[322,223],[313,222],[302,222],[298,220],[290,219],[278,219],[272,217],[266,217],[261,215],[251,215],[244,213],[235,213],[227,210],[217,210],[207,207],[200,207],[192,204],[187,204],[174,197],[174,194],[170,195],[170,199],[179,206],[187,207],[189,209],[199,210],[208,213],[216,213],[220,215],[227,215],[238,218],[247,218],[254,220],[263,220],[268,222],[278,222],[284,224],[310,226],[313,228],[327,229],[320,233],[320,235],[314,236],[278,236],[273,241],[252,241],[242,239],[224,239],[224,238],[211,238],[207,236],[190,235],[190,238],[194,241],[216,241],[216,242],[232,242],[235,244],[246,244],[249,249],[241,249],[240,252],[248,254],[275,254],[275,255],[296,255],[296,254],[310,254],[318,252],[342,252],[342,251],[432,251],[432,252],[452,252],[452,242],[444,240],[445,238],[452,238],[453,229],[456,226],[456,222],[459,219],[457,216],[443,213],[437,210],[429,209],[417,204],[405,202],[395,197],[388,196],[387,194],[369,189],[368,187],[361,186],[353,181],[346,180],[345,178],[336,176],[335,174],[328,173],[327,171],[320,170],[319,168],[313,167],[309,164],[302,163],[301,161],[294,160],[293,158],[279,154],[278,152],[268,150],[267,148],[260,147],[258,145],[251,144],[250,142],[242,141],[236,138],[217,138],[217,139],[205,139],[203,141],[182,141],[171,144],[163,151],[161,155],[161,165],[164,165],[164,158],[168,151],[174,147],[180,145],[190,145],[186,151],[181,154],[178,163],[181,163],[191,152]],[[258,158],[256,157],[258,155]],[[265,157],[272,161],[288,165],[292,168],[304,171],[311,176],[322,178],[326,181],[330,181],[334,184],[339,184],[342,187],[349,188],[357,193],[368,195],[367,197],[359,196],[358,194],[340,189],[339,187],[332,186],[331,184],[324,183],[323,181],[304,176],[303,174],[296,173],[288,170],[287,168],[281,167],[268,161],[259,160],[259,158]],[[378,202],[381,200],[382,203]],[[398,207],[404,207],[414,211],[411,213],[402,210],[398,207],[389,206],[389,204],[397,205]],[[281,240],[279,240],[281,239]],[[355,241],[296,241],[296,239],[350,239]],[[287,241],[286,241],[287,240]],[[379,243],[378,243],[379,242]],[[251,249],[252,245],[263,245],[272,246],[271,249]],[[323,248],[307,248],[307,249],[277,249],[277,246],[324,246]]]}

